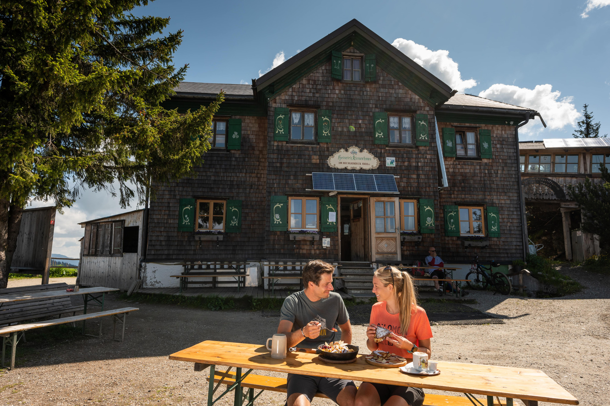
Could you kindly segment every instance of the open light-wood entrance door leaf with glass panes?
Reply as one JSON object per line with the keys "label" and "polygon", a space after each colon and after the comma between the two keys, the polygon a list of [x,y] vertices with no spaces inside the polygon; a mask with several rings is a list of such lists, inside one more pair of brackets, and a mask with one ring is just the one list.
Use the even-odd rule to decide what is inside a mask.
{"label": "open light-wood entrance door leaf with glass panes", "polygon": [[398,198],[370,198],[371,261],[400,261]]}

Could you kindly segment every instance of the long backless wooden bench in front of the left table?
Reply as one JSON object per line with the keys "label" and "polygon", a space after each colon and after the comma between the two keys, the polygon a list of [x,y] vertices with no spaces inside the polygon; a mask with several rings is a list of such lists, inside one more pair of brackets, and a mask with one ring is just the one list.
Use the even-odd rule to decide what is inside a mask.
{"label": "long backless wooden bench in front of the left table", "polygon": [[[121,335],[121,340],[116,340],[116,341],[123,341],[123,339],[125,338],[125,322],[127,320],[127,313],[134,312],[135,310],[140,310],[140,309],[137,307],[123,307],[123,308],[117,308],[114,310],[106,310],[104,312],[87,313],[86,315],[70,316],[70,317],[64,317],[64,318],[60,318],[60,319],[52,319],[52,320],[38,321],[38,322],[32,322],[32,323],[27,323],[27,324],[17,324],[16,326],[2,327],[2,328],[0,328],[0,337],[2,337],[2,368],[4,368],[5,350],[6,350],[7,345],[11,346],[10,369],[15,368],[15,352],[16,352],[16,348],[17,348],[17,343],[19,343],[20,338],[23,337],[23,333],[26,330],[40,329],[40,327],[57,326],[59,324],[84,321],[84,320],[95,319],[95,318],[104,317],[104,316],[112,316],[112,322],[113,322],[112,340],[115,340],[115,331],[117,329],[117,321],[118,321],[118,322],[123,323],[123,333]],[[119,317],[120,315],[123,315],[122,319]],[[21,333],[21,337],[20,337],[20,333]],[[102,320],[100,319],[99,320],[99,335],[93,336],[93,337],[99,338],[99,337],[101,337],[101,335],[102,335]]]}

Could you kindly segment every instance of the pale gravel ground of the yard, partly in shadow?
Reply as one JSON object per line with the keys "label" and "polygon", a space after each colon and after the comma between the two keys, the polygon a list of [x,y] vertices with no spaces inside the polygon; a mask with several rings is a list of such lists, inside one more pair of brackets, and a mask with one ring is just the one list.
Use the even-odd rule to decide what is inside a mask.
{"label": "pale gravel ground of the yard, partly in shadow", "polygon": [[[581,405],[610,405],[610,282],[578,268],[563,271],[587,289],[558,299],[473,292],[468,298],[478,304],[470,306],[506,324],[432,326],[433,358],[542,369]],[[15,371],[0,374],[0,404],[205,405],[207,371],[194,372],[191,363],[170,361],[167,355],[203,340],[262,344],[278,324],[276,317],[260,312],[138,304],[113,295],[106,305],[140,307],[127,320],[123,343],[110,340],[111,324],[104,321],[99,340],[77,335],[52,345],[26,344]],[[96,329],[95,322],[88,326]],[[36,342],[35,331],[28,333],[29,343]],[[353,341],[364,344],[365,327],[354,327]],[[284,401],[285,395],[265,392],[256,404],[281,406]],[[218,404],[230,405],[232,397]],[[332,402],[315,399],[314,404]]]}

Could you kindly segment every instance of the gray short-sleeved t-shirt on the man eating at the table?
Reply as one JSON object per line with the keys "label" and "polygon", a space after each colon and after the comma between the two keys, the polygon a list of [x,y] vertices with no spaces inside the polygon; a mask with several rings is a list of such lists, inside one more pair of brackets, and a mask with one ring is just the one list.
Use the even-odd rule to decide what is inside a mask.
{"label": "gray short-sleeved t-shirt on the man eating at the table", "polygon": [[[325,341],[328,343],[330,341],[341,340],[339,324],[345,324],[350,319],[350,315],[345,308],[341,295],[336,292],[330,292],[326,299],[312,302],[305,294],[305,291],[301,290],[291,294],[284,300],[280,312],[280,320],[292,322],[292,331],[300,330],[310,321],[316,320],[316,318],[318,318],[318,321],[320,318],[324,319],[328,328],[320,330],[320,336],[314,340],[306,337],[298,344],[299,347],[316,348]],[[331,330],[332,327],[335,327],[337,332],[333,332]]]}

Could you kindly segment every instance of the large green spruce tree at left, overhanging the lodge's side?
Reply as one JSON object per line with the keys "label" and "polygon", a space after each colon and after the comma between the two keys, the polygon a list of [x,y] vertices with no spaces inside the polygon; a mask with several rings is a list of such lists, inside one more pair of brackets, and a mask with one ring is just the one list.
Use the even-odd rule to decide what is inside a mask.
{"label": "large green spruce tree at left, overhanging the lodge's side", "polygon": [[182,31],[130,12],[146,4],[0,1],[0,288],[30,199],[61,210],[93,188],[126,207],[203,163],[223,93],[185,115],[161,107],[187,69],[172,64]]}

